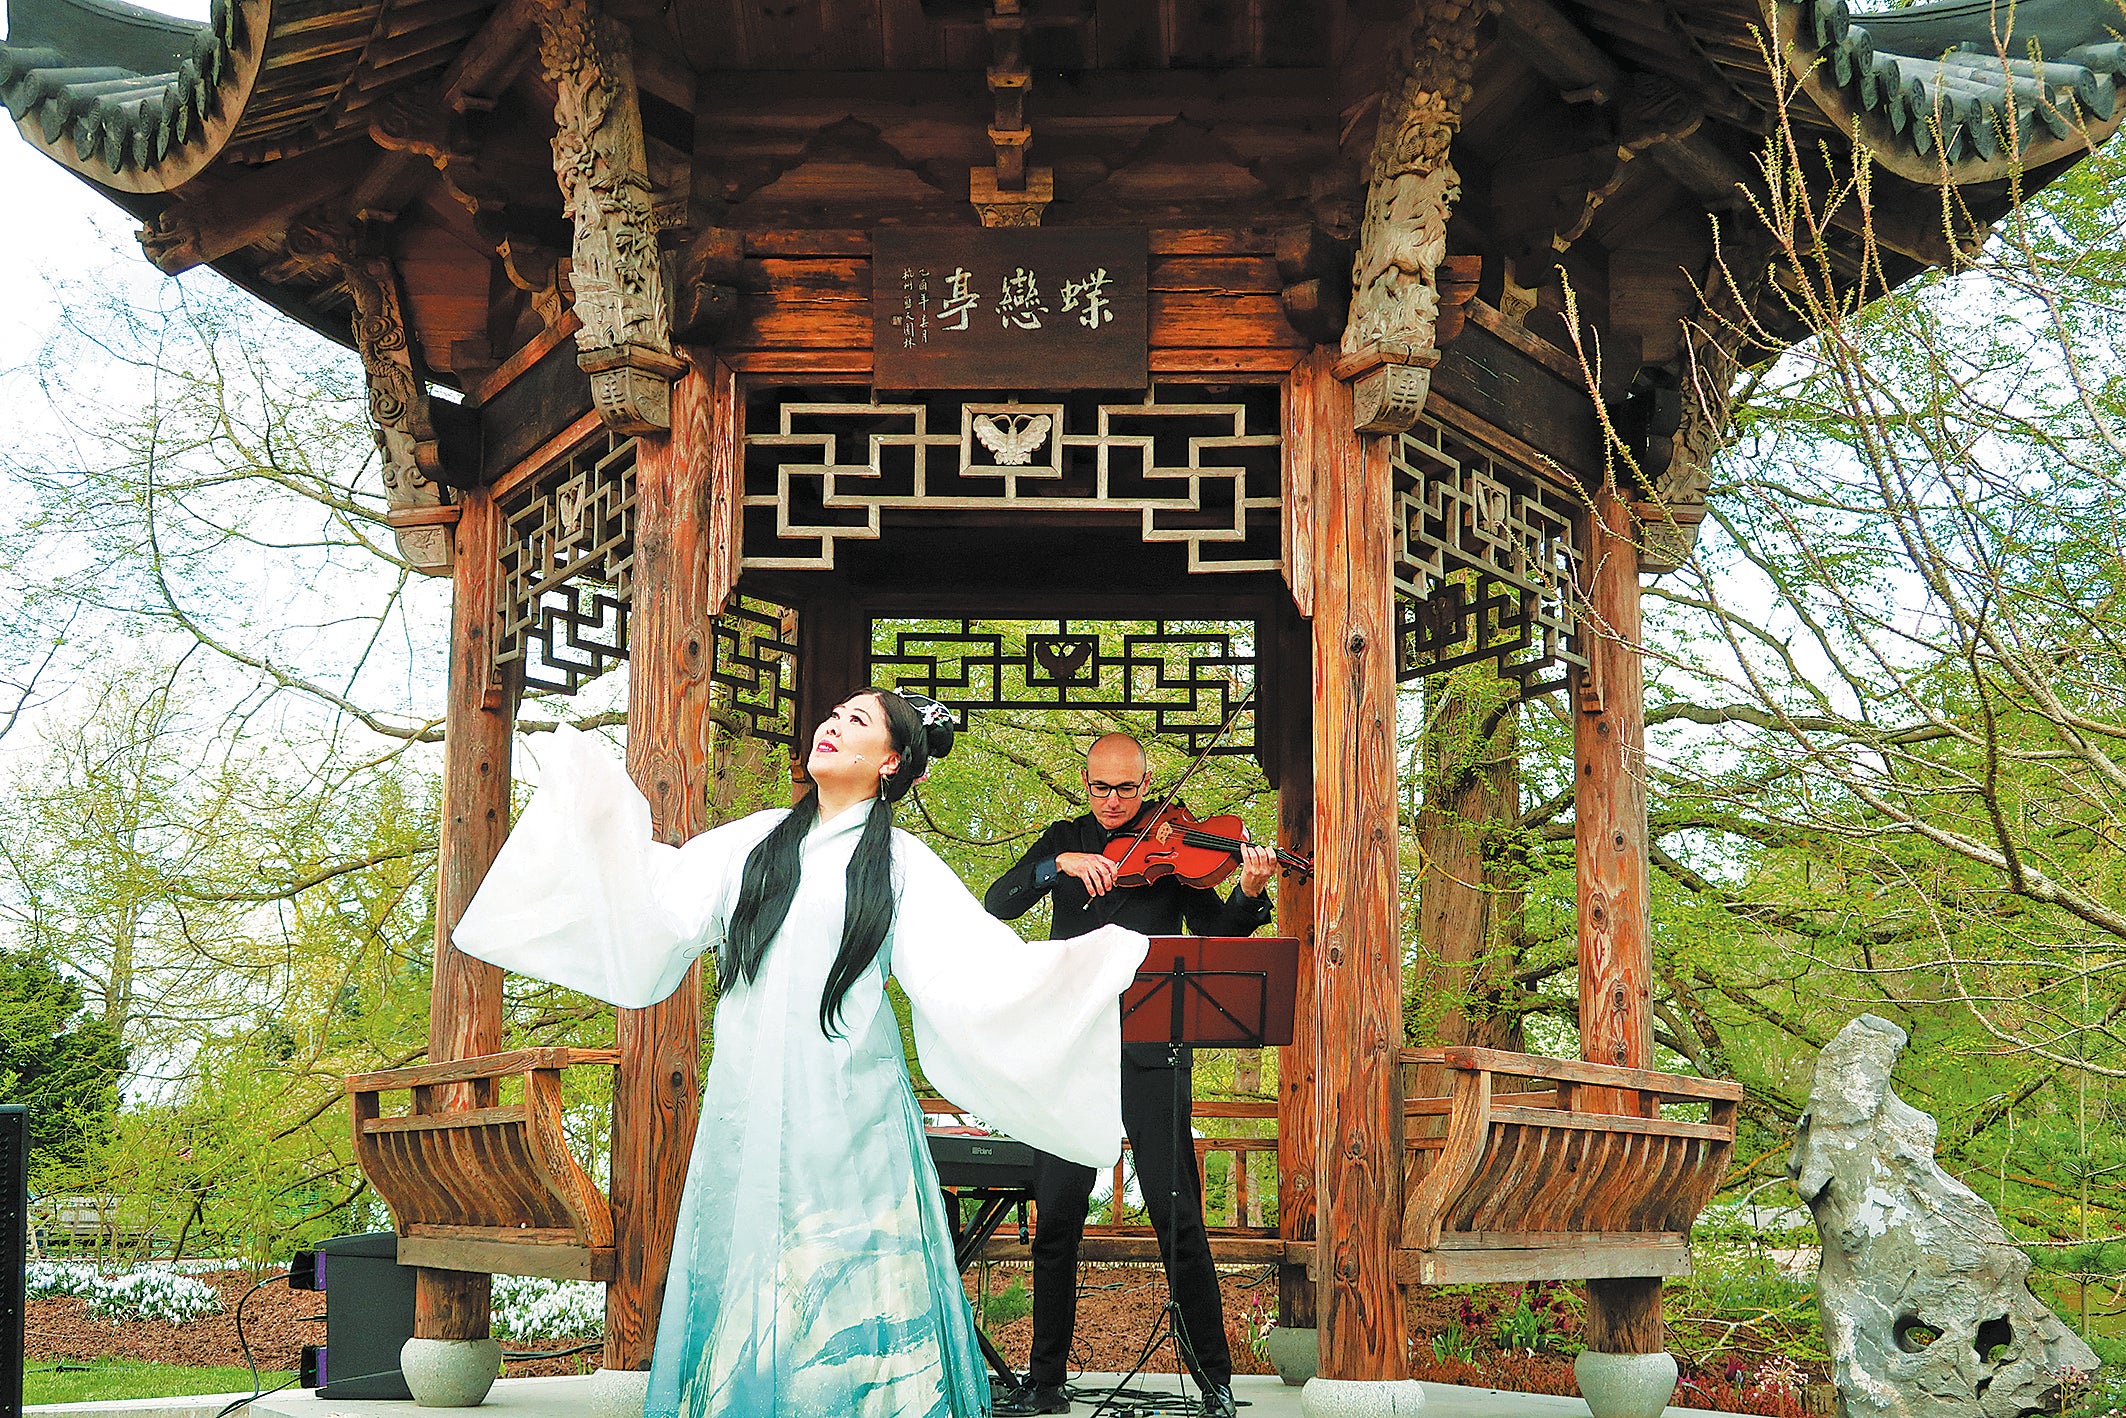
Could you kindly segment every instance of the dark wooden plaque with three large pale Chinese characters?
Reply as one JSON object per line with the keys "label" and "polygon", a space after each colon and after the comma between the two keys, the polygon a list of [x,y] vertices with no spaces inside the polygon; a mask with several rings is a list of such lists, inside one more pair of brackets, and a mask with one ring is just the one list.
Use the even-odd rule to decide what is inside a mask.
{"label": "dark wooden plaque with three large pale Chinese characters", "polygon": [[1140,389],[1144,232],[880,227],[872,234],[878,389]]}

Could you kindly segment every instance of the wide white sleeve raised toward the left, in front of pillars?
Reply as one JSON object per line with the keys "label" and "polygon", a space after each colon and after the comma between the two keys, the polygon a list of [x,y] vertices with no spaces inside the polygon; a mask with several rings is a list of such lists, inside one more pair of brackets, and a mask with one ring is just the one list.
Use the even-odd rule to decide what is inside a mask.
{"label": "wide white sleeve raised toward the left, in front of pillars", "polygon": [[723,940],[746,853],[782,814],[670,846],[651,838],[648,801],[597,740],[561,727],[536,759],[538,791],[451,942],[629,1010],[657,1003]]}

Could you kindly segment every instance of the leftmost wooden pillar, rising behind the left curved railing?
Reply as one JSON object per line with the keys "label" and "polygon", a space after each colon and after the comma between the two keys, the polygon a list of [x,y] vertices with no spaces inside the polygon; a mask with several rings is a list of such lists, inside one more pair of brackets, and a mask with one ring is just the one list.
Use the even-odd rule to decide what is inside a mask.
{"label": "leftmost wooden pillar, rising behind the left curved railing", "polygon": [[[436,967],[427,997],[429,1063],[502,1050],[502,969],[451,944],[510,831],[514,676],[495,670],[495,597],[502,593],[502,512],[485,491],[466,493],[451,585],[451,680],[442,710],[442,840],[436,850]],[[474,1097],[474,1091],[487,1097]],[[449,1084],[438,1108],[491,1103],[493,1082]],[[485,1339],[489,1276],[415,1271],[412,1333]]]}

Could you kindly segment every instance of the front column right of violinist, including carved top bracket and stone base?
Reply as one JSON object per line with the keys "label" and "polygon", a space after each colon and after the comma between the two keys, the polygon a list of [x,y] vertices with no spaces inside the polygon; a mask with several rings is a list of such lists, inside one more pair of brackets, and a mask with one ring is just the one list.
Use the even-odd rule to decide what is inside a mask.
{"label": "front column right of violinist, including carved top bracket and stone base", "polygon": [[1314,538],[1314,982],[1322,1405],[1401,1414],[1403,948],[1395,793],[1395,438],[1439,351],[1473,0],[1420,0],[1380,98],[1342,357],[1322,372]]}

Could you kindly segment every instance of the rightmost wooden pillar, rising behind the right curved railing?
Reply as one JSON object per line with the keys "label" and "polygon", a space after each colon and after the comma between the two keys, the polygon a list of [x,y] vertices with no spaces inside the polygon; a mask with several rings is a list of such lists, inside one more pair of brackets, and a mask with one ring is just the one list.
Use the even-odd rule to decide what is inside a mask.
{"label": "rightmost wooden pillar, rising behind the right curved railing", "polygon": [[[1646,682],[1639,663],[1639,553],[1631,506],[1594,493],[1586,538],[1588,670],[1573,716],[1573,870],[1580,901],[1580,1057],[1652,1067],[1654,959],[1648,940]],[[1575,1105],[1639,1112],[1639,1097],[1582,1088]],[[1665,1348],[1660,1280],[1590,1280],[1586,1344],[1603,1354]]]}

